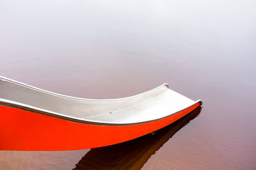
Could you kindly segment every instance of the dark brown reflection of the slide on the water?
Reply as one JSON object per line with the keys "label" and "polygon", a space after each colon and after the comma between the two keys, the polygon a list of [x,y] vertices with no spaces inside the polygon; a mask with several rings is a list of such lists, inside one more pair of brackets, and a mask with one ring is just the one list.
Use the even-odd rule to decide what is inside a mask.
{"label": "dark brown reflection of the slide on the water", "polygon": [[76,164],[74,169],[140,169],[180,128],[200,114],[197,107],[180,120],[156,133],[144,135],[125,143],[93,148]]}

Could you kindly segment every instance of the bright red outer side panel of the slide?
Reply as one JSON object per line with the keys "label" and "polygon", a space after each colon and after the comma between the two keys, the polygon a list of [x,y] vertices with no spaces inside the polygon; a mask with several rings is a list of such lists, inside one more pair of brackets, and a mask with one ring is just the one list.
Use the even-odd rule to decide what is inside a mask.
{"label": "bright red outer side panel of the slide", "polygon": [[162,120],[119,127],[76,123],[0,105],[0,150],[82,150],[122,143],[166,127],[199,105]]}

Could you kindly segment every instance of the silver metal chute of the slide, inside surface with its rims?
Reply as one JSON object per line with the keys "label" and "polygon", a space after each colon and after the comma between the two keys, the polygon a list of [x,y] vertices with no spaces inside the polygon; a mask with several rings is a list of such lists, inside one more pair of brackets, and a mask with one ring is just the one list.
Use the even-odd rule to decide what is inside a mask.
{"label": "silver metal chute of the slide, inside surface with its rims", "polygon": [[143,123],[175,114],[199,101],[169,89],[168,84],[132,97],[94,100],[68,97],[0,77],[0,105],[26,107],[80,121]]}

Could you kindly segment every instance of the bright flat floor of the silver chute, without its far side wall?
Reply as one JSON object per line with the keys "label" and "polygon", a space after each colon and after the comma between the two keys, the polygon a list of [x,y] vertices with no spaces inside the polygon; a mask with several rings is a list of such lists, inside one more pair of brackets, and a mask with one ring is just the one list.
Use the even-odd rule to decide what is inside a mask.
{"label": "bright flat floor of the silver chute, without its far side wall", "polygon": [[105,114],[86,119],[108,121],[111,123],[136,123],[163,118],[193,104],[195,104],[193,100],[171,89],[166,89],[159,95],[148,98],[148,100],[136,105],[132,105],[132,107],[111,111],[111,114],[110,112],[106,112]]}

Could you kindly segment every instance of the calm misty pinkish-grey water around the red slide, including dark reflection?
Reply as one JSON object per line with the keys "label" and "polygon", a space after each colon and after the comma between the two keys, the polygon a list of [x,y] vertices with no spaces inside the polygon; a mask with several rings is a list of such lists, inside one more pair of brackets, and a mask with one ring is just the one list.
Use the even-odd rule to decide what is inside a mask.
{"label": "calm misty pinkish-grey water around the red slide, including dark reflection", "polygon": [[0,1],[0,75],[84,98],[168,82],[204,102],[155,135],[0,151],[0,169],[256,169],[255,1]]}

